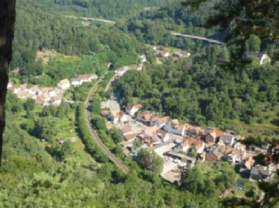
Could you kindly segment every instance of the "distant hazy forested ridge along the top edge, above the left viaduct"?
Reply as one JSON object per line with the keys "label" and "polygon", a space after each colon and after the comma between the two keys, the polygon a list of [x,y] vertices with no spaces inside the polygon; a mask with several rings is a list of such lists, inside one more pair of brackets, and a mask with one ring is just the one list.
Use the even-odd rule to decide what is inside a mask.
{"label": "distant hazy forested ridge along the top edge, above the left viaduct", "polygon": [[55,10],[86,17],[119,19],[134,16],[142,10],[163,6],[167,0],[36,0]]}

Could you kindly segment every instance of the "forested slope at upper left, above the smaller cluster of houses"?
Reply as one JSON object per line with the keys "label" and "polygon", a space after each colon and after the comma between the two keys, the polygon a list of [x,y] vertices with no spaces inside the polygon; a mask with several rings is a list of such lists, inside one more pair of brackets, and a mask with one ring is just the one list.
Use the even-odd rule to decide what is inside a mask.
{"label": "forested slope at upper left, above the smaller cluster of houses", "polygon": [[43,66],[36,60],[36,52],[43,49],[71,56],[93,55],[98,61],[112,62],[117,67],[135,63],[142,47],[133,35],[122,33],[113,25],[83,26],[82,22],[34,1],[18,1],[11,70],[18,67],[25,77],[40,75]]}

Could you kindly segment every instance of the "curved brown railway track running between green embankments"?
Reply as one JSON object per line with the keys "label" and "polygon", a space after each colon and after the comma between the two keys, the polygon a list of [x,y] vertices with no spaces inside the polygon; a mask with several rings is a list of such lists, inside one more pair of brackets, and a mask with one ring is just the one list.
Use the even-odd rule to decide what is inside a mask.
{"label": "curved brown railway track running between green embankments", "polygon": [[107,146],[103,143],[103,141],[98,136],[98,134],[95,131],[95,129],[93,129],[93,127],[91,126],[90,111],[89,111],[90,102],[89,101],[92,99],[94,93],[96,93],[96,90],[98,90],[98,86],[100,84],[100,81],[102,81],[103,77],[105,77],[105,75],[100,77],[100,79],[98,80],[96,85],[93,86],[93,88],[91,89],[91,91],[90,91],[90,93],[87,96],[87,99],[85,101],[86,105],[85,105],[85,108],[84,108],[84,113],[85,113],[85,117],[86,117],[86,123],[87,123],[87,126],[88,126],[89,130],[90,130],[90,134],[91,134],[92,138],[96,141],[96,143],[103,150],[103,152],[105,152],[105,154],[107,154],[107,157],[109,157],[110,160],[116,166],[118,166],[121,170],[123,170],[124,173],[128,173],[129,169],[123,164],[121,159],[118,159],[117,157],[114,156],[114,154],[112,154],[112,152],[110,152],[110,150],[107,148]]}

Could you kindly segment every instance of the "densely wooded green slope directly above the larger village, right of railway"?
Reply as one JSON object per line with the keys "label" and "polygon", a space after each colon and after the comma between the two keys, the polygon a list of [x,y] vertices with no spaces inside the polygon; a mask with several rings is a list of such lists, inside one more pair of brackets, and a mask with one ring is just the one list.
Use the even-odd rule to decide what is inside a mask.
{"label": "densely wooded green slope directly above the larger village, right of railway", "polygon": [[[172,118],[238,131],[257,123],[255,134],[278,135],[278,67],[261,66],[256,59],[239,72],[226,71],[218,65],[226,53],[224,47],[202,47],[177,63],[166,60],[128,72],[115,89],[124,105],[140,101]],[[236,120],[251,126],[243,128]]]}

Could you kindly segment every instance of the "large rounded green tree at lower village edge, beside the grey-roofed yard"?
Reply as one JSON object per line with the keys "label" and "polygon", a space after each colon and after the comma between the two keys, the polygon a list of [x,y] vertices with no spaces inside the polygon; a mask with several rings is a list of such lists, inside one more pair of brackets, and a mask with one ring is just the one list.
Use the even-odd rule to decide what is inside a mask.
{"label": "large rounded green tree at lower village edge, beside the grey-roofed yard", "polygon": [[142,168],[151,170],[156,174],[159,174],[163,170],[163,159],[156,154],[153,150],[147,148],[141,149],[137,152],[137,161]]}

